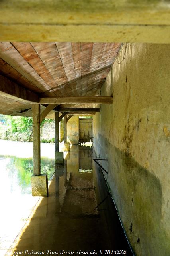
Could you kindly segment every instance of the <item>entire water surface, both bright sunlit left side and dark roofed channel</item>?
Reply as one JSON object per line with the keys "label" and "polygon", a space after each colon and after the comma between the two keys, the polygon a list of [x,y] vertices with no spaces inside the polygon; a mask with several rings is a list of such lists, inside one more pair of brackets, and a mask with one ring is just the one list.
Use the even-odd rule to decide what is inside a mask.
{"label": "entire water surface, both bright sunlit left side and dark roofed channel", "polygon": [[[96,250],[97,255],[99,250],[103,254],[113,250],[112,255],[114,250],[125,250],[125,255],[132,255],[102,171],[92,160],[92,147],[72,145],[64,166],[54,166],[54,145],[42,144],[41,171],[48,173],[50,181],[49,197],[39,199],[31,196],[32,144],[0,143],[4,149],[10,147],[0,150],[1,255],[25,223],[7,255],[14,250],[45,255],[47,250],[59,254],[62,250]],[[3,155],[5,151],[11,155]]]}

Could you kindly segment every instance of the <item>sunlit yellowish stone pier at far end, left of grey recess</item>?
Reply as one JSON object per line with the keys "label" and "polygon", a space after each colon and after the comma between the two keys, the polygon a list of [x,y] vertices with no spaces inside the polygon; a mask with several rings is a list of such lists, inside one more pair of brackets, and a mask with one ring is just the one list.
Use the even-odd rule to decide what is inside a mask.
{"label": "sunlit yellowish stone pier at far end, left of grey recess", "polygon": [[67,142],[78,144],[79,116],[72,116],[67,122]]}

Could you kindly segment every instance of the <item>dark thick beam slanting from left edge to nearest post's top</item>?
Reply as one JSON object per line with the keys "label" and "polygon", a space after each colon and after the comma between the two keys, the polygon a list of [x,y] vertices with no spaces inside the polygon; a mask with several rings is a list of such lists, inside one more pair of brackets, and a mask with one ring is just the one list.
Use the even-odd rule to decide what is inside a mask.
{"label": "dark thick beam slanting from left edge to nearest post's top", "polygon": [[30,103],[39,103],[38,94],[0,75],[0,96]]}

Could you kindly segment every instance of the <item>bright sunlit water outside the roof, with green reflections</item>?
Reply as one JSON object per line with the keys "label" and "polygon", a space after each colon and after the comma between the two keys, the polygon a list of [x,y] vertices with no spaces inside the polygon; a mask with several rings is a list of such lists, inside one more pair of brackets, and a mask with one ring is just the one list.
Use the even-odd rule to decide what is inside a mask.
{"label": "bright sunlit water outside the roof, with green reflections", "polygon": [[[0,256],[2,256],[27,221],[39,197],[33,197],[31,194],[32,143],[0,140],[0,145]],[[47,173],[50,179],[55,171],[54,147],[41,144],[41,149],[43,153],[41,172]],[[50,152],[53,152],[51,158],[45,157],[45,153],[49,156]]]}

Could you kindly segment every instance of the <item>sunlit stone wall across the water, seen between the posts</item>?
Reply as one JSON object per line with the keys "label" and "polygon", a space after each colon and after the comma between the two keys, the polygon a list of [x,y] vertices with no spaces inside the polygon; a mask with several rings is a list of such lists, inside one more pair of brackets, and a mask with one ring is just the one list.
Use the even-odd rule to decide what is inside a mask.
{"label": "sunlit stone wall across the water, seen between the posts", "polygon": [[[55,121],[45,122],[41,127],[41,140],[54,140],[55,138]],[[64,140],[64,122],[63,119],[59,123],[59,141]]]}

